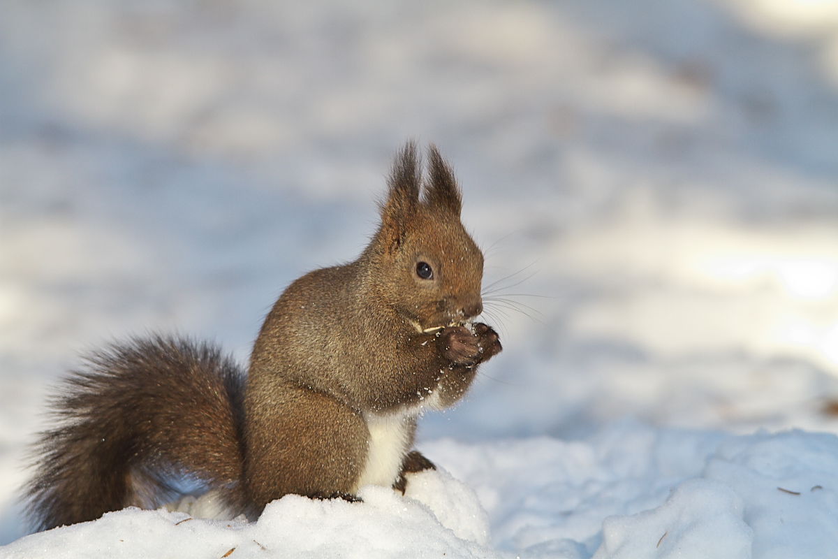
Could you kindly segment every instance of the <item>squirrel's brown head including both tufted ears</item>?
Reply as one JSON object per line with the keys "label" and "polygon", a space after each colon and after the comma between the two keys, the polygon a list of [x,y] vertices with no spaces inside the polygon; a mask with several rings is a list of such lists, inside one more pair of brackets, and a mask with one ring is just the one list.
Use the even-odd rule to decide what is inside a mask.
{"label": "squirrel's brown head including both tufted ears", "polygon": [[460,221],[462,199],[451,167],[428,149],[427,176],[416,145],[396,155],[370,277],[375,289],[419,331],[461,324],[483,312],[483,253]]}

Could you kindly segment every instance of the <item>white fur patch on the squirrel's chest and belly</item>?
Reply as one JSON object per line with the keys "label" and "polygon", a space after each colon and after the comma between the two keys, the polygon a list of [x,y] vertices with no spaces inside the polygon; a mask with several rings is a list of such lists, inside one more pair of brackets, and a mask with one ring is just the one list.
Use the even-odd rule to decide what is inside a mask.
{"label": "white fur patch on the squirrel's chest and belly", "polygon": [[419,406],[399,413],[378,415],[365,414],[364,419],[370,437],[367,439],[367,457],[364,469],[355,484],[354,492],[365,485],[390,487],[401,473],[401,463],[410,448],[411,425],[416,416],[428,408],[437,407],[438,396],[433,393]]}

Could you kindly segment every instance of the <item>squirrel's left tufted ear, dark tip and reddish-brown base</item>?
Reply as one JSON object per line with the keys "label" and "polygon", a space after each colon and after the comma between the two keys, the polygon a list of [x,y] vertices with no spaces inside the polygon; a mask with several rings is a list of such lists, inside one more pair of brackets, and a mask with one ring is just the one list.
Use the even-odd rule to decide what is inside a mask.
{"label": "squirrel's left tufted ear, dark tip and reddish-brown base", "polygon": [[408,222],[416,215],[422,169],[416,155],[416,142],[409,141],[393,161],[387,199],[380,204],[381,228],[379,238],[391,249],[401,245]]}

